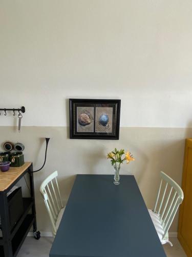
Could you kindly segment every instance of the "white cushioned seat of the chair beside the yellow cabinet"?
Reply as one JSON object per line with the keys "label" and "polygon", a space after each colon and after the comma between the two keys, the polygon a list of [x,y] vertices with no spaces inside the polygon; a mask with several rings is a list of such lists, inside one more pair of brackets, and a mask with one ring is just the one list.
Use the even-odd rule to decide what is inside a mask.
{"label": "white cushioned seat of the chair beside the yellow cabinet", "polygon": [[168,233],[166,233],[166,235],[163,237],[164,230],[163,230],[163,226],[161,225],[159,215],[157,213],[153,212],[150,209],[148,210],[148,212],[150,213],[150,216],[152,218],[153,224],[155,226],[155,229],[157,231],[157,234],[159,236],[161,244],[164,245],[166,243],[170,243],[169,240],[168,240]]}

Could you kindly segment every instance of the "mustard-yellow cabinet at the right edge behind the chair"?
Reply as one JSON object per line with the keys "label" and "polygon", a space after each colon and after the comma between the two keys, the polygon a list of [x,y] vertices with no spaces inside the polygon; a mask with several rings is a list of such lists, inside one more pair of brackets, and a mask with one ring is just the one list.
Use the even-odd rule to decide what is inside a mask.
{"label": "mustard-yellow cabinet at the right edge behind the chair", "polygon": [[186,139],[183,164],[183,203],[179,212],[178,239],[188,257],[192,257],[192,138]]}

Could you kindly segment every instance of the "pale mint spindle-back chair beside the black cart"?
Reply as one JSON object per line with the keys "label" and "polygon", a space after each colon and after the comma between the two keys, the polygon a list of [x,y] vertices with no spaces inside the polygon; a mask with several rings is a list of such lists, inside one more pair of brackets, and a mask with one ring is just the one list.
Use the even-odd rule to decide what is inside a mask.
{"label": "pale mint spindle-back chair beside the black cart", "polygon": [[60,191],[57,183],[57,171],[49,175],[40,185],[40,192],[53,226],[53,236],[56,235],[65,207],[62,205]]}

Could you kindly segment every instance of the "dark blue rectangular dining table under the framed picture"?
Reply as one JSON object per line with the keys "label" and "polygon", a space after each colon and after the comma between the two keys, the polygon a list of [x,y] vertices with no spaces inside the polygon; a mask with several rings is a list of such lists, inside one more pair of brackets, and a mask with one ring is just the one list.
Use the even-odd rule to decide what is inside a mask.
{"label": "dark blue rectangular dining table under the framed picture", "polygon": [[133,175],[77,175],[50,257],[165,257]]}

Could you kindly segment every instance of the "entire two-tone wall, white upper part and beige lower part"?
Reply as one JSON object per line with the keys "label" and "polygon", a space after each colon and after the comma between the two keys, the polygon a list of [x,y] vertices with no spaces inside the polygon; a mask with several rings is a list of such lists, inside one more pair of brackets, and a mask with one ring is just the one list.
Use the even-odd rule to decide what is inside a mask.
{"label": "entire two-tone wall, white upper part and beige lower part", "polygon": [[[106,153],[115,147],[134,154],[121,174],[134,173],[147,207],[160,170],[181,184],[192,136],[191,14],[189,0],[0,0],[0,108],[26,107],[20,134],[2,113],[0,145],[23,142],[37,169],[51,137],[34,175],[39,230],[51,231],[42,180],[57,169],[66,202],[75,174],[113,174]],[[121,99],[120,139],[70,140],[69,98]]]}

